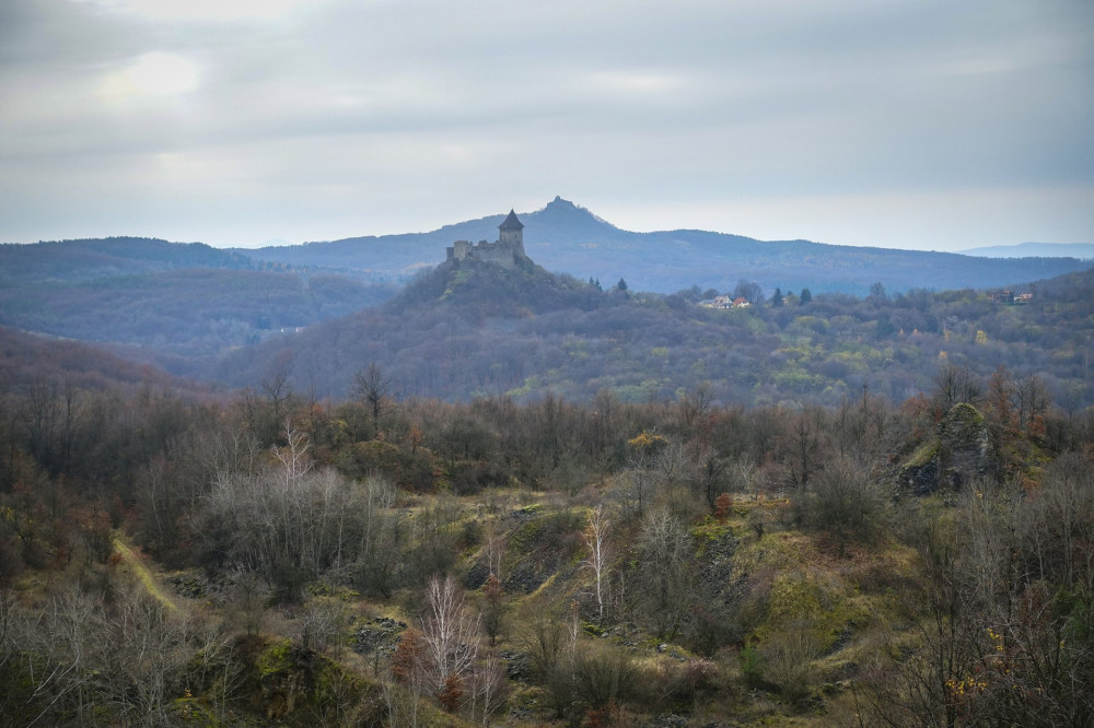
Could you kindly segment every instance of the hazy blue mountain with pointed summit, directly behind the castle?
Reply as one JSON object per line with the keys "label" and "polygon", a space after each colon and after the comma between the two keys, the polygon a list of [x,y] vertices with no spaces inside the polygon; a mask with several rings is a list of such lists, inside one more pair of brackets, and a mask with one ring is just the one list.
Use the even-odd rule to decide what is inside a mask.
{"label": "hazy blue mountain with pointed summit, directly behind the castle", "polygon": [[[493,240],[503,215],[429,233],[353,237],[329,243],[247,250],[256,258],[295,266],[327,266],[408,275],[444,259],[453,240]],[[875,282],[889,291],[1010,286],[1084,270],[1070,258],[990,259],[951,253],[764,242],[696,230],[633,233],[619,230],[572,202],[556,198],[520,213],[528,255],[547,270],[672,293],[691,285],[732,289],[740,280],[775,287],[865,295]],[[878,240],[884,243],[884,240]]]}

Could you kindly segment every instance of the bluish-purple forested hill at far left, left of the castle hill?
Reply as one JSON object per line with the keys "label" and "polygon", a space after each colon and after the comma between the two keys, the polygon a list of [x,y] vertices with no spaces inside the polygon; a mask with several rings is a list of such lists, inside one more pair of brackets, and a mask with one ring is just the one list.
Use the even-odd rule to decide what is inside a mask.
{"label": "bluish-purple forested hill at far left, left of the castle hill", "polygon": [[[394,285],[149,238],[0,246],[0,326],[211,356],[385,301]],[[132,350],[129,350],[130,352]],[[175,374],[189,367],[175,361]]]}

